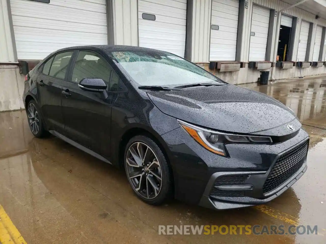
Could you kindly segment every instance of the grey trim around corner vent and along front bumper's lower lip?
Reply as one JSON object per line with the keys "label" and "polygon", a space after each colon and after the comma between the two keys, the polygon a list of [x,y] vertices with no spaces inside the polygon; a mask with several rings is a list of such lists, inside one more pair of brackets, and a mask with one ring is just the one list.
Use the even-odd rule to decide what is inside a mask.
{"label": "grey trim around corner vent and along front bumper's lower lip", "polygon": [[281,195],[287,189],[290,188],[297,180],[301,178],[304,172],[307,170],[307,163],[301,166],[301,168],[293,174],[286,182],[282,185],[275,188],[267,198],[259,199],[253,197],[210,197],[210,192],[214,186],[215,180],[217,177],[222,175],[232,175],[232,174],[266,174],[266,171],[263,172],[216,172],[214,173],[210,180],[207,183],[204,194],[200,199],[199,205],[205,208],[215,209],[215,210],[224,210],[224,209],[235,209],[254,206],[258,204],[263,204],[273,200],[274,198]]}

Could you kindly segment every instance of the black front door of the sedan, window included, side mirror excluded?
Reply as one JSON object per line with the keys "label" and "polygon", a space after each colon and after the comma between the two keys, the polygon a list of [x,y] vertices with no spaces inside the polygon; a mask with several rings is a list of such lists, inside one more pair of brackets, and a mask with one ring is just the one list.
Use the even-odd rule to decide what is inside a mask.
{"label": "black front door of the sedan, window included, side mirror excluded", "polygon": [[[73,62],[69,81],[62,88],[66,136],[102,156],[110,157],[109,84],[113,70],[110,64],[95,52],[81,50]],[[107,90],[82,90],[78,83],[86,77],[103,79],[108,85]]]}

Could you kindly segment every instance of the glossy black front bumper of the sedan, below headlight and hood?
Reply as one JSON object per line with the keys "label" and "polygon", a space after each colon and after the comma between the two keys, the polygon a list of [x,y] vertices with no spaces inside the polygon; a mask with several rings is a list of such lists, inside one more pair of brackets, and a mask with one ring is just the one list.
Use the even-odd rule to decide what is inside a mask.
{"label": "glossy black front bumper of the sedan, below headlight and hood", "polygon": [[[282,143],[227,145],[230,154],[228,158],[208,152],[189,138],[190,136],[179,129],[163,135],[171,150],[169,157],[174,175],[175,198],[191,204],[199,204],[211,209],[231,209],[262,204],[282,194],[307,169],[309,137],[303,129],[300,129],[295,137]],[[292,157],[292,154],[293,152],[298,154],[296,150],[302,145],[305,145],[305,148],[299,153],[300,164],[297,164],[298,157]],[[291,160],[283,162],[282,167],[276,167],[279,159],[288,154],[292,155]],[[292,167],[293,165],[295,167]],[[291,170],[287,171],[288,169]],[[274,181],[271,182],[271,175],[273,177],[276,175],[275,179],[277,179],[277,174],[283,175],[284,172],[286,177],[283,177],[281,182],[275,184]],[[231,176],[237,177],[232,180]],[[228,178],[232,180],[227,182],[228,187],[251,186],[251,189],[225,190],[216,185],[219,179]],[[244,180],[239,181],[239,179]],[[267,182],[269,182],[268,187],[266,187]],[[221,188],[222,192],[225,190],[225,192],[233,191],[241,194],[215,194],[216,188]],[[218,191],[221,192],[221,189]]]}

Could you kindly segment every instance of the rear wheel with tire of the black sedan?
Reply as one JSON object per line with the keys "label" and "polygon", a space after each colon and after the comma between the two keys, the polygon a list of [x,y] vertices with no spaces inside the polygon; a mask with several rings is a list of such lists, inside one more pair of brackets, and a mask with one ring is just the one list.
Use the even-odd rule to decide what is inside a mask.
{"label": "rear wheel with tire of the black sedan", "polygon": [[39,111],[40,109],[35,100],[28,102],[26,107],[26,114],[29,129],[35,137],[42,138],[49,135],[49,132],[44,129],[44,120],[42,114]]}

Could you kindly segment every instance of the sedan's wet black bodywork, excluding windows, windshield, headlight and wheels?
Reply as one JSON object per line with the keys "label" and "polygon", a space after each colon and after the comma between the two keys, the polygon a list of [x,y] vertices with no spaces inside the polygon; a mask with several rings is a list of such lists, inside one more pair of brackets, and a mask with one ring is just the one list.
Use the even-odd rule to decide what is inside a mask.
{"label": "sedan's wet black bodywork, excluding windows, windshield, headlight and wheels", "polygon": [[[28,101],[35,100],[47,130],[93,156],[123,167],[128,139],[138,134],[149,135],[171,165],[174,197],[212,209],[270,201],[305,172],[308,134],[301,129],[294,113],[273,98],[230,84],[139,89],[108,53],[156,50],[87,46],[56,53],[70,50],[74,52],[72,60],[81,50],[103,56],[119,76],[119,90],[92,93],[69,87],[71,96],[66,96],[64,80],[50,79],[46,86],[40,86],[41,62],[29,74],[23,101],[27,106]],[[70,66],[66,78],[71,76]],[[272,142],[225,143],[226,155],[220,156],[196,142],[180,122],[226,135],[267,136]]]}

